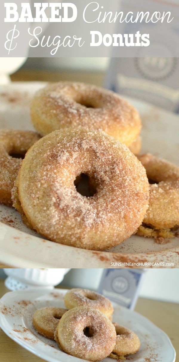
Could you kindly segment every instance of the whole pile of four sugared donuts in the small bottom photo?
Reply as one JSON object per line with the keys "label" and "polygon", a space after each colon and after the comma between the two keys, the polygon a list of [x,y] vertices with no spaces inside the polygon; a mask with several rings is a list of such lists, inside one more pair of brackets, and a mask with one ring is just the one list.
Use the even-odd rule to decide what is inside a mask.
{"label": "whole pile of four sugared donuts in the small bottom photo", "polygon": [[72,356],[100,361],[106,357],[125,359],[140,348],[138,336],[112,323],[112,303],[96,292],[71,289],[64,296],[68,310],[43,307],[33,315],[33,325],[43,336],[55,340]]}

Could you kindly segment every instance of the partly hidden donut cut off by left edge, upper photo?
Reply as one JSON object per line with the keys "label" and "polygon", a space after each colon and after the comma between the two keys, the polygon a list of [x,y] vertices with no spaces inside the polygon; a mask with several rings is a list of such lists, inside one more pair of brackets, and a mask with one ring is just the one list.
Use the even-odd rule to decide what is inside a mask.
{"label": "partly hidden donut cut off by left edge, upper photo", "polygon": [[0,130],[0,203],[12,206],[11,190],[22,158],[39,139],[32,131]]}

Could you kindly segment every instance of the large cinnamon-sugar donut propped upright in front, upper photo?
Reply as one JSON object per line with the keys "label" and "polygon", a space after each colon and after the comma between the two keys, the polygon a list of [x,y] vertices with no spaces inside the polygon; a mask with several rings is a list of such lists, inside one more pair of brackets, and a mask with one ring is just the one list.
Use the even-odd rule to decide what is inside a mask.
{"label": "large cinnamon-sugar donut propped upright in front, upper photo", "polygon": [[[93,180],[93,196],[76,190],[80,174]],[[148,207],[149,183],[124,144],[104,132],[64,129],[26,153],[18,198],[32,227],[47,239],[104,250],[137,231]]]}

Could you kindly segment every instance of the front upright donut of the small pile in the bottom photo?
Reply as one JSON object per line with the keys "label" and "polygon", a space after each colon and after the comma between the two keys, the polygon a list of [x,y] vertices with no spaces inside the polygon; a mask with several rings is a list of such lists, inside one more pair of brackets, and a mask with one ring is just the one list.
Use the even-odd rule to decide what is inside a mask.
{"label": "front upright donut of the small pile in the bottom photo", "polygon": [[55,340],[64,352],[74,357],[99,361],[112,352],[116,331],[112,322],[100,311],[76,307],[62,316]]}

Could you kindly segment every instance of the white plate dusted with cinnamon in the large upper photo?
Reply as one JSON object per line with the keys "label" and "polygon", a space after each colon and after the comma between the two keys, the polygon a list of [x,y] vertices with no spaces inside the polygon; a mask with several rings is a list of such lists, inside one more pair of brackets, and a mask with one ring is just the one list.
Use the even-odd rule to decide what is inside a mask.
{"label": "white plate dusted with cinnamon in the large upper photo", "polygon": [[[44,83],[0,86],[0,127],[32,130],[29,99],[43,86]],[[10,97],[7,95],[9,89]],[[17,94],[14,97],[12,89],[22,96]],[[142,152],[151,152],[177,164],[179,116],[138,100],[130,99],[130,102],[142,118]],[[15,209],[0,205],[0,261],[17,268],[178,268],[178,241],[175,238],[170,243],[159,245],[154,239],[133,235],[109,252],[68,247],[42,239],[22,223]],[[130,264],[120,264],[125,262]]]}

